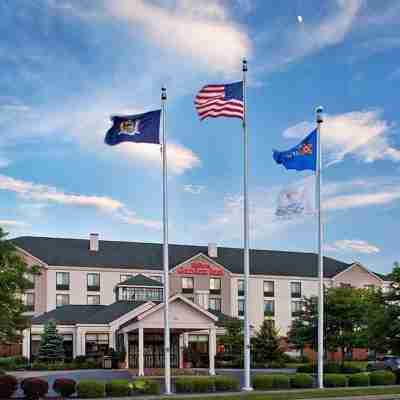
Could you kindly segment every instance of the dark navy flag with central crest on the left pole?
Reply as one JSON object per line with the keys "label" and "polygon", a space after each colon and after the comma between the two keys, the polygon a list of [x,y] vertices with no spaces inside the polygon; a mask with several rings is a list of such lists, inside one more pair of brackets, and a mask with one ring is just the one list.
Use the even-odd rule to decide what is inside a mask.
{"label": "dark navy flag with central crest on the left pole", "polygon": [[160,143],[161,110],[136,115],[111,117],[112,127],[104,141],[113,146],[122,142]]}

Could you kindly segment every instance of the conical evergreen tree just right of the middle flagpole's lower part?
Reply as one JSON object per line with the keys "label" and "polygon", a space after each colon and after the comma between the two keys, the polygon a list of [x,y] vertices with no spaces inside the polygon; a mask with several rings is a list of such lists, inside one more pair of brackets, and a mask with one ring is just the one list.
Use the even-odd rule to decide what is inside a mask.
{"label": "conical evergreen tree just right of the middle flagpole's lower part", "polygon": [[252,342],[258,362],[280,361],[282,359],[283,351],[279,343],[278,331],[270,320],[264,320]]}

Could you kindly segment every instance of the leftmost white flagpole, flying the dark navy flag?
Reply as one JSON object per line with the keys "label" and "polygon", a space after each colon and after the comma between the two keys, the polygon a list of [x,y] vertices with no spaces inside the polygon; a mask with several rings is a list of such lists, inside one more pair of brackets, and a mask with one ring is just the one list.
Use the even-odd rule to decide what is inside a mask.
{"label": "leftmost white flagpole, flying the dark navy flag", "polygon": [[164,377],[165,394],[171,394],[171,358],[169,336],[169,267],[168,267],[168,191],[167,191],[167,132],[165,129],[167,89],[161,89],[162,160],[163,160],[163,267],[164,267]]}

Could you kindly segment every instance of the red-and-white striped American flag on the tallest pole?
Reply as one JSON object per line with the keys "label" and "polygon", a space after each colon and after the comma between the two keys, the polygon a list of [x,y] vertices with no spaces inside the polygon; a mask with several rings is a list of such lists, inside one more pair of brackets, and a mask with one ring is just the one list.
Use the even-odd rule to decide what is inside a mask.
{"label": "red-and-white striped American flag on the tallest pole", "polygon": [[243,82],[206,85],[197,93],[194,103],[201,120],[208,117],[244,119]]}

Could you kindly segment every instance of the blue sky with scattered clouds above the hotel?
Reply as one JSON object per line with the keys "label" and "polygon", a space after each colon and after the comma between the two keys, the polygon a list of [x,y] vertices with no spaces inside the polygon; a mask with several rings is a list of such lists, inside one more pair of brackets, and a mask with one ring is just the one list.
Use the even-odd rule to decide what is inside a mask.
{"label": "blue sky with scattered clouds above the hotel", "polygon": [[248,60],[250,246],[316,251],[313,215],[275,216],[310,172],[276,165],[322,105],[326,254],[389,272],[400,219],[398,0],[4,0],[0,226],[162,241],[157,145],[104,144],[110,115],[160,107],[167,88],[171,243],[243,245],[242,128],[200,122],[205,84]]}

